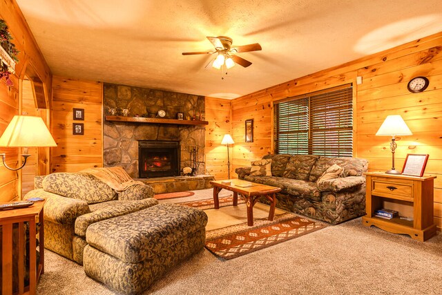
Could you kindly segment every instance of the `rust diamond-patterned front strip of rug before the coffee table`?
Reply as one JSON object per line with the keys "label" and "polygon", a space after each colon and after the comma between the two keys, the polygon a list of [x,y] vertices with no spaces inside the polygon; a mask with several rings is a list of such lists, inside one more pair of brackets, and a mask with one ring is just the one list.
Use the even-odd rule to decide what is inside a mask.
{"label": "rust diamond-patterned front strip of rug before the coffee table", "polygon": [[253,223],[253,227],[246,222],[207,231],[206,249],[220,260],[229,260],[326,227],[322,222],[308,220],[295,213],[275,216],[273,221],[256,219]]}

